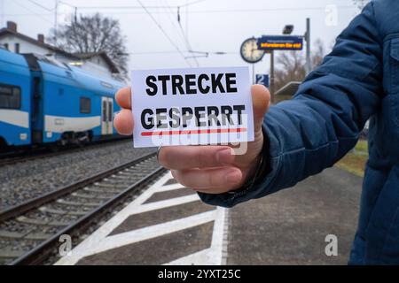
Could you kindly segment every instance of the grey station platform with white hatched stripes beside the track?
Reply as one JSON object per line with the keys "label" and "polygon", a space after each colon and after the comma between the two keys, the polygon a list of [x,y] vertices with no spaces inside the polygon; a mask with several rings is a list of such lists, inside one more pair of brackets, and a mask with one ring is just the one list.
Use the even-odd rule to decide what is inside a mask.
{"label": "grey station platform with white hatched stripes beside the track", "polygon": [[[347,264],[361,184],[332,168],[227,210],[168,172],[56,264]],[[328,234],[338,256],[325,255]]]}

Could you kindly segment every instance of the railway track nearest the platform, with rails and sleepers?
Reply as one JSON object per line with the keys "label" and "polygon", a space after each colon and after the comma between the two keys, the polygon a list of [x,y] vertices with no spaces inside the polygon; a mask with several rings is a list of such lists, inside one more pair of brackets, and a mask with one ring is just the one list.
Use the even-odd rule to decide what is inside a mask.
{"label": "railway track nearest the platform, with rails and sleepers", "polygon": [[0,211],[0,264],[43,264],[163,170],[152,153]]}

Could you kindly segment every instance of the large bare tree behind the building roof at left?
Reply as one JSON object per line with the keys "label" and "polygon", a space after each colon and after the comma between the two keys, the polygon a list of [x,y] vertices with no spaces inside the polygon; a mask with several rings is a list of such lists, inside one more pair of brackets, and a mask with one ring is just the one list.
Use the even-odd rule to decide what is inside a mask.
{"label": "large bare tree behind the building roof at left", "polygon": [[60,26],[57,31],[51,30],[49,41],[71,53],[105,51],[123,76],[128,73],[126,38],[121,34],[121,26],[116,19],[104,17],[100,13],[81,15]]}

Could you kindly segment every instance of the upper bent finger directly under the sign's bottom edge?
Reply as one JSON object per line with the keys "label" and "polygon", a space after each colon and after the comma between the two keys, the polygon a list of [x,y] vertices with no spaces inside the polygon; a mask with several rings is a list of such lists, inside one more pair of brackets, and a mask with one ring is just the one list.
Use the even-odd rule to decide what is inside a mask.
{"label": "upper bent finger directly under the sign's bottom edge", "polygon": [[226,146],[179,146],[160,149],[159,162],[168,169],[192,169],[233,164],[235,156]]}

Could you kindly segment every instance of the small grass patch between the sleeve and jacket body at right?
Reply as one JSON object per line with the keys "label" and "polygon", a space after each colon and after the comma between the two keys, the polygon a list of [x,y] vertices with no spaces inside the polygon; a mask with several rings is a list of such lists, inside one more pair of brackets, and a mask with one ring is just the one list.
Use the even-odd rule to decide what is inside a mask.
{"label": "small grass patch between the sleeve and jacket body at right", "polygon": [[335,164],[340,169],[364,177],[364,166],[369,158],[367,141],[359,141],[354,150],[350,151],[340,162]]}

